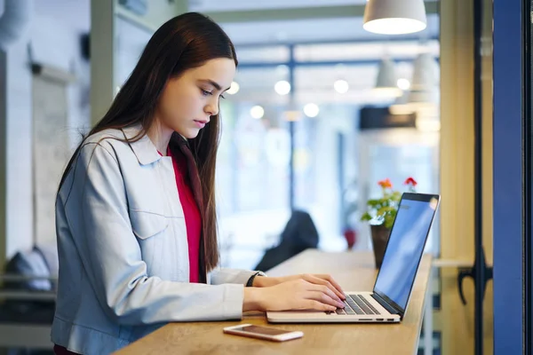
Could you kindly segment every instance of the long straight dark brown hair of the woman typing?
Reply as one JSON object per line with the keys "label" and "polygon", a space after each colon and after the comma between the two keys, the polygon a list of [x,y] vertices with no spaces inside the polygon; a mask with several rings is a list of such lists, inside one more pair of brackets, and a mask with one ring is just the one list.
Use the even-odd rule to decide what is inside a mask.
{"label": "long straight dark brown hair of the woman typing", "polygon": [[[124,140],[134,142],[142,138],[154,122],[155,109],[169,79],[188,69],[201,67],[210,59],[227,58],[238,65],[234,44],[227,34],[207,16],[188,12],[171,20],[155,31],[137,66],[116,95],[107,114],[85,136],[68,162],[60,187],[76,162],[87,137],[107,129],[123,129],[141,124],[139,135]],[[200,176],[203,197],[203,249],[206,271],[219,264],[217,241],[217,213],[215,204],[215,164],[219,147],[219,114],[211,116],[209,124],[198,136],[189,139]],[[172,139],[177,139],[176,134]],[[171,141],[170,146],[176,146]],[[201,207],[202,208],[202,207]]]}

